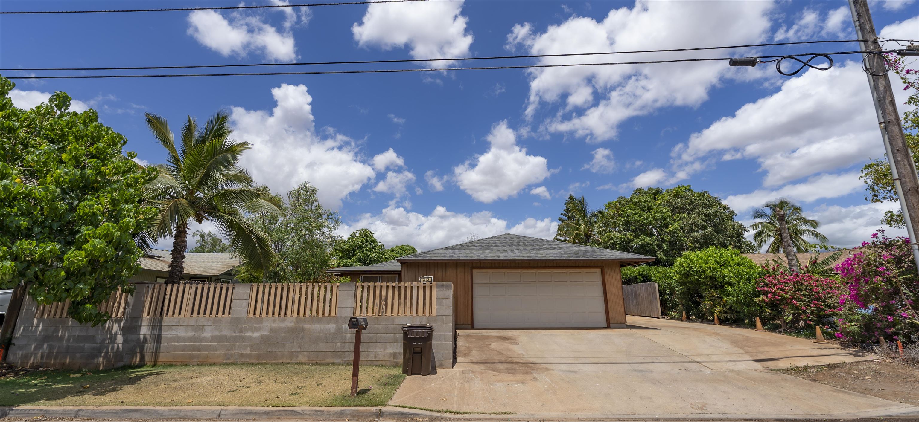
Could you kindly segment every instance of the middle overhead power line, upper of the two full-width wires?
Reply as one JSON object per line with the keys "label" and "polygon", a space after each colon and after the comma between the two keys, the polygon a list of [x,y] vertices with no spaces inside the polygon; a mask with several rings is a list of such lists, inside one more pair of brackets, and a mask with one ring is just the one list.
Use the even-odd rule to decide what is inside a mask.
{"label": "middle overhead power line, upper of the two full-width wires", "polygon": [[565,54],[528,54],[528,55],[520,55],[520,56],[460,57],[460,58],[455,58],[455,59],[400,59],[400,60],[378,60],[378,61],[307,61],[307,62],[298,62],[298,63],[203,64],[203,65],[187,65],[187,66],[20,68],[20,69],[0,69],[0,71],[138,71],[138,70],[156,70],[156,69],[159,69],[159,70],[163,70],[163,69],[202,69],[202,68],[230,68],[230,67],[252,67],[252,66],[308,66],[308,65],[320,65],[320,64],[372,64],[372,63],[405,63],[405,62],[423,62],[423,61],[478,61],[478,60],[504,60],[504,59],[538,59],[538,58],[546,58],[546,57],[598,56],[598,55],[607,55],[607,54],[744,49],[744,48],[752,48],[752,47],[773,47],[773,46],[789,46],[789,45],[800,45],[800,44],[823,44],[827,42],[858,42],[858,41],[860,41],[860,39],[834,39],[834,40],[823,40],[823,41],[771,42],[767,44],[743,44],[743,45],[720,46],[720,47],[696,47],[696,48],[687,48],[687,49],[605,51],[605,52],[565,53]]}

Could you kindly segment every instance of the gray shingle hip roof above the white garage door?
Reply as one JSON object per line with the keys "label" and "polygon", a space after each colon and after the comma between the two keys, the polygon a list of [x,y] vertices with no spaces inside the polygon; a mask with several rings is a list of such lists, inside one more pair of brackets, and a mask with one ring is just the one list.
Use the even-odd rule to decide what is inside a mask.
{"label": "gray shingle hip roof above the white garage door", "polygon": [[581,260],[650,262],[654,258],[618,250],[575,245],[557,240],[503,235],[472,240],[437,250],[426,250],[397,258],[397,261],[486,261],[486,260]]}

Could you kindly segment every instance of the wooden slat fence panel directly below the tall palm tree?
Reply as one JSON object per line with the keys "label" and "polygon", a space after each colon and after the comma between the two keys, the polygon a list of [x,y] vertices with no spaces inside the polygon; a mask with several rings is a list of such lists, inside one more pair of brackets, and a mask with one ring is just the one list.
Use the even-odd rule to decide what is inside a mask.
{"label": "wooden slat fence panel directly below the tall palm tree", "polygon": [[233,283],[150,284],[143,316],[230,316]]}

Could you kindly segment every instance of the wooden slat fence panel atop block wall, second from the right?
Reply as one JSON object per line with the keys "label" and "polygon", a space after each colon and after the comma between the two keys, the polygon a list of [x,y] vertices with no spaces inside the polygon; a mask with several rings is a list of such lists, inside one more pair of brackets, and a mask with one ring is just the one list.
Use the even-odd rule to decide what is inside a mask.
{"label": "wooden slat fence panel atop block wall, second from the right", "polygon": [[337,316],[338,283],[252,284],[249,316]]}

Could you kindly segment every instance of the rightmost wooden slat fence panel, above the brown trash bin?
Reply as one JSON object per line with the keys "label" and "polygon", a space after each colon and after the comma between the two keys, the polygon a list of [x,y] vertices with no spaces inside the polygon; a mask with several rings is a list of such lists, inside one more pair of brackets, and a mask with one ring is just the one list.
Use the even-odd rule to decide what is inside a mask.
{"label": "rightmost wooden slat fence panel, above the brown trash bin", "polygon": [[355,316],[434,316],[434,283],[356,283]]}

